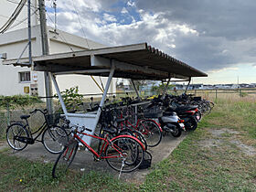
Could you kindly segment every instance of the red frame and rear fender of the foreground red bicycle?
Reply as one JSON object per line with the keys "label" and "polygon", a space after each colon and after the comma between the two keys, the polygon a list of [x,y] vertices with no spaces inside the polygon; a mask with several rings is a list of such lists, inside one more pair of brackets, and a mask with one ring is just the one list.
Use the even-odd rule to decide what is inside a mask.
{"label": "red frame and rear fender of the foreground red bicycle", "polygon": [[[85,135],[85,136],[91,136],[92,138],[95,138],[95,139],[103,140],[104,143],[103,143],[102,146],[101,146],[101,151],[99,152],[99,154],[98,154],[95,150],[93,150],[89,144],[86,144],[86,143],[82,140],[82,138],[80,138],[80,136],[79,136],[77,133],[83,134],[83,135]],[[115,155],[115,156],[103,156],[103,155],[102,155],[102,153],[106,150],[107,146],[112,143],[112,140],[113,140],[113,139],[120,138],[120,137],[123,137],[123,136],[129,137],[129,138],[133,138],[134,140],[136,140],[136,142],[138,142],[139,144],[141,144],[142,147],[143,147],[143,149],[144,149],[144,144],[142,144],[137,138],[135,138],[135,137],[133,137],[133,136],[130,136],[130,135],[119,135],[119,136],[113,137],[111,140],[108,140],[108,139],[107,139],[108,134],[106,134],[106,136],[105,136],[104,138],[102,138],[102,137],[100,137],[100,136],[91,135],[91,134],[89,134],[89,133],[82,133],[82,132],[77,132],[77,133],[73,133],[73,134],[74,134],[74,135],[73,135],[74,138],[76,138],[81,144],[83,144],[86,148],[88,148],[89,151],[90,151],[93,155],[95,155],[97,158],[101,158],[101,159],[117,158],[117,157],[123,156],[123,155],[122,155],[122,152],[120,152],[120,151],[117,149],[117,148],[119,148],[119,147],[116,146],[116,145],[113,145],[112,147],[116,150],[116,152],[119,153],[119,156],[117,156],[117,155]],[[115,147],[115,146],[116,146],[116,147]],[[144,149],[144,150],[145,150],[145,149]]]}

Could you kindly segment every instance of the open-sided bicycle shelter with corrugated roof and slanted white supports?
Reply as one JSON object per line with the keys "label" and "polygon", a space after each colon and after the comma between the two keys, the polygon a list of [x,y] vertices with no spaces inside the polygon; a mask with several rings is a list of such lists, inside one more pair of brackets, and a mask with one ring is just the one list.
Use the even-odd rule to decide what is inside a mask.
{"label": "open-sided bicycle shelter with corrugated roof and slanted white supports", "polygon": [[[28,59],[20,59],[22,64],[17,64],[16,59],[10,59],[4,60],[3,64],[24,66],[27,61]],[[59,53],[35,57],[33,62],[34,70],[50,72],[66,118],[73,124],[84,125],[92,130],[91,132],[85,131],[86,133],[94,133],[112,78],[131,79],[132,82],[133,80],[168,80],[168,84],[171,78],[190,81],[192,77],[208,76],[148,46],[147,43]],[[108,77],[97,112],[71,113],[67,111],[56,80],[57,75],[67,74]],[[136,93],[138,95],[138,91]],[[83,138],[83,140],[91,144],[91,137]]]}

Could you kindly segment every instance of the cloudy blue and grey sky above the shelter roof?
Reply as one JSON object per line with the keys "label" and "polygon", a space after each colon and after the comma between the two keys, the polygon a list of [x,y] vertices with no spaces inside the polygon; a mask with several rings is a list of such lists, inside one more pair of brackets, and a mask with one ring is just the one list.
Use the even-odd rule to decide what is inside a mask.
{"label": "cloudy blue and grey sky above the shelter roof", "polygon": [[[46,0],[53,27],[53,0]],[[208,73],[256,82],[255,0],[57,0],[58,28],[108,46],[147,42]],[[51,19],[49,19],[49,17]]]}

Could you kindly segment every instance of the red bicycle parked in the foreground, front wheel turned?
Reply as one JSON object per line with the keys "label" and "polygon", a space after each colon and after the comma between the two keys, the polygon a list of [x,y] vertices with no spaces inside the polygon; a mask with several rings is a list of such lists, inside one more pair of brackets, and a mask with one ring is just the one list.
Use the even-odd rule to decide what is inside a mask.
{"label": "red bicycle parked in the foreground, front wheel turned", "polygon": [[[85,133],[85,131],[88,133]],[[52,169],[52,176],[57,178],[66,174],[78,151],[79,143],[94,155],[94,160],[100,161],[105,159],[108,165],[120,172],[119,177],[121,173],[132,172],[142,164],[145,149],[144,145],[137,138],[131,135],[118,135],[109,139],[109,133],[112,133],[112,130],[103,128],[102,131],[100,135],[95,133],[92,135],[90,134],[92,132],[91,129],[77,125],[71,127],[70,133],[72,138],[59,154]],[[99,145],[97,152],[82,140],[83,136],[90,136],[101,141],[102,144],[101,146]]]}

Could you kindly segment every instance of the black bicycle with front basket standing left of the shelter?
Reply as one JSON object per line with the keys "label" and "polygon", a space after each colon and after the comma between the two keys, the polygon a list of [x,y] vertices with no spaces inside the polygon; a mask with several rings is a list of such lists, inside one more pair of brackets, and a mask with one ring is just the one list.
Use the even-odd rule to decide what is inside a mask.
{"label": "black bicycle with front basket standing left of the shelter", "polygon": [[[53,115],[48,114],[47,110],[36,109],[30,114],[35,114],[36,112],[41,112],[44,115],[45,122],[37,129],[36,132],[32,133],[27,119],[30,115],[21,115],[21,120],[24,122],[14,122],[11,123],[6,130],[6,140],[7,143],[16,151],[21,151],[27,147],[27,144],[35,144],[35,142],[41,142],[44,147],[51,154],[59,154],[64,149],[64,144],[69,140],[69,135],[60,126],[54,125],[52,123]],[[34,134],[37,135],[33,137]],[[42,135],[41,140],[37,138]]]}

